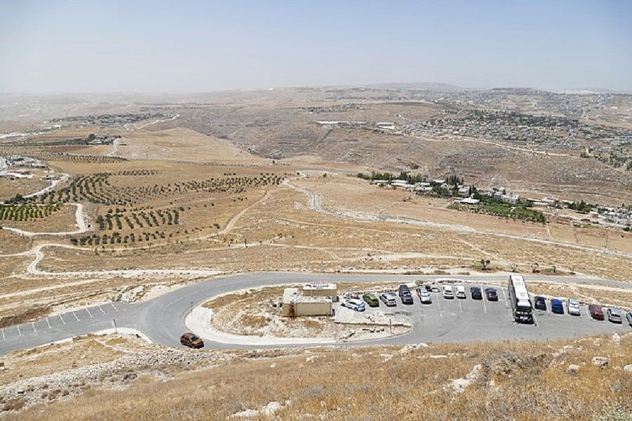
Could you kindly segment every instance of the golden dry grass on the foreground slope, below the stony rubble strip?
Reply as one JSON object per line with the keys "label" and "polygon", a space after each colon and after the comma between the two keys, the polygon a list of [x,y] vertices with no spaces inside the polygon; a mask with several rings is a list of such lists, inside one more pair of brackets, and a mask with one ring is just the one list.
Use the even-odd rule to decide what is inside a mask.
{"label": "golden dry grass on the foreground slope, below the stony rubble strip", "polygon": [[[273,417],[281,420],[592,420],[607,405],[629,417],[632,376],[620,368],[632,362],[631,341],[626,335],[621,345],[585,338],[416,350],[315,349],[277,352],[272,359],[254,354],[257,359],[167,382],[144,379],[124,391],[84,394],[6,419],[222,420],[273,401],[282,405]],[[610,365],[593,366],[597,355],[610,358]],[[576,375],[566,372],[571,363],[579,366]],[[477,365],[478,378],[465,392],[448,387]]]}

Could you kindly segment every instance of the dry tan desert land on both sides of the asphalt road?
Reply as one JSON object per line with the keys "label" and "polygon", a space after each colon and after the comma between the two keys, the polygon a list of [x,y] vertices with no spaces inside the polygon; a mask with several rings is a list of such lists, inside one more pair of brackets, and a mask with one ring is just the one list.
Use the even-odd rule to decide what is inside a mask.
{"label": "dry tan desert land on both sides of the asphalt road", "polygon": [[[0,96],[3,338],[74,310],[144,305],[216,276],[258,272],[520,273],[548,277],[529,284],[534,294],[630,312],[630,109],[632,95],[519,89]],[[382,173],[393,175],[386,185],[375,182]],[[393,184],[402,176],[424,180],[426,193]],[[454,190],[449,178],[460,180]],[[499,203],[495,213],[491,205],[455,207],[463,186],[501,186],[501,197],[518,194],[541,220],[516,217],[520,201]],[[325,319],[270,328],[261,314],[242,311],[261,312],[281,293],[227,308],[211,301],[213,327],[340,333]],[[437,420],[490,408],[526,420],[534,418],[520,414],[546,406],[541,419],[563,412],[605,420],[630,410],[632,377],[623,368],[632,363],[631,338],[185,352],[108,331],[5,354],[0,416],[113,419],[107,406],[126,393],[138,405],[117,419],[210,416],[197,403],[211,399],[218,419],[247,411],[252,419],[383,419],[379,411],[418,419],[423,407]],[[594,365],[593,356],[610,365]],[[296,370],[303,375],[291,388]],[[364,385],[369,375],[375,382]],[[72,381],[53,388],[60,376]],[[184,376],[190,384],[171,386],[184,385]],[[344,387],[319,380],[340,376]],[[595,392],[595,377],[611,386]],[[96,378],[110,385],[96,386]],[[209,386],[194,392],[198,382]],[[525,387],[528,396],[518,399]],[[251,397],[238,399],[244,389]]]}

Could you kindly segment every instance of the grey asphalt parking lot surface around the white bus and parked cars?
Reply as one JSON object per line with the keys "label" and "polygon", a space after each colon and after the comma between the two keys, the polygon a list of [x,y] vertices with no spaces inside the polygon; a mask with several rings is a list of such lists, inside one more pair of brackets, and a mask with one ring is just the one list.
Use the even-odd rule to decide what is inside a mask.
{"label": "grey asphalt parking lot surface around the white bus and parked cars", "polygon": [[623,323],[621,324],[611,323],[607,321],[607,318],[603,321],[592,319],[588,306],[583,304],[579,316],[568,314],[566,302],[564,302],[564,314],[554,314],[551,312],[550,300],[546,300],[546,311],[533,310],[533,324],[516,323],[511,314],[506,288],[494,286],[498,292],[498,301],[489,301],[485,297],[482,300],[473,300],[470,295],[470,286],[479,286],[481,290],[485,290],[489,285],[473,283],[461,285],[466,287],[467,298],[446,299],[442,297],[442,293],[434,290],[430,292],[432,303],[422,304],[416,290],[412,289],[414,300],[412,305],[402,304],[399,296],[395,307],[387,307],[380,301],[379,307],[367,305],[364,312],[355,312],[337,303],[336,314],[344,314],[345,320],[360,321],[366,319],[368,315],[383,312],[387,318],[393,320],[393,323],[412,323],[412,332],[402,337],[402,343],[555,339],[575,335],[632,331],[625,319],[625,312],[622,312]]}

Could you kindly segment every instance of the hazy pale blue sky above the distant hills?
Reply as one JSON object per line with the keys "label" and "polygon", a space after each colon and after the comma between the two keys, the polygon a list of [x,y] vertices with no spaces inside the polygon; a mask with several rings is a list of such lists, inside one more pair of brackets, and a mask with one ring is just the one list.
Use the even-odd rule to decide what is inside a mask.
{"label": "hazy pale blue sky above the distant hills", "polygon": [[632,1],[0,0],[0,92],[632,90]]}

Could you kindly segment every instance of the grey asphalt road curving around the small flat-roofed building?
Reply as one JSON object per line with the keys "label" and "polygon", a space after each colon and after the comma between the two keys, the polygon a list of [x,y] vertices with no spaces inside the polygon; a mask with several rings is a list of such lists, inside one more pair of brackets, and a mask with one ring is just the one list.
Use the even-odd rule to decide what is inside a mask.
{"label": "grey asphalt road curving around the small flat-roofed building", "polygon": [[[308,274],[308,273],[258,273],[218,276],[207,281],[193,283],[189,286],[173,290],[157,298],[139,304],[114,302],[86,309],[75,310],[59,316],[50,316],[33,323],[24,323],[0,329],[0,355],[15,349],[27,349],[45,345],[58,340],[73,338],[77,335],[110,329],[116,321],[117,327],[133,328],[162,345],[179,347],[179,338],[187,328],[185,316],[195,307],[215,295],[230,293],[234,290],[270,286],[283,283],[304,283],[311,281],[327,282],[412,282],[416,279],[458,279],[468,283],[494,281],[504,285],[506,274],[470,275],[470,276],[419,276],[419,275],[355,275],[355,274]],[[585,277],[530,276],[529,281],[572,281],[574,283],[597,283],[604,286],[631,288],[632,283],[607,281]],[[463,342],[475,340],[507,340],[507,339],[554,339],[572,335],[590,333],[612,333],[613,331],[629,331],[625,321],[622,325],[614,325],[607,321],[592,321],[587,314],[576,318],[558,316],[542,312],[536,313],[537,323],[518,325],[511,321],[506,309],[506,302],[489,302],[485,307],[474,300],[442,300],[435,298],[433,305],[422,306],[416,301],[414,306],[398,305],[398,310],[413,314],[414,328],[406,335],[351,342],[353,344],[402,345],[419,342]],[[435,312],[435,306],[438,312]],[[478,305],[479,307],[475,307]],[[452,307],[450,307],[452,306]],[[494,307],[495,306],[495,307]],[[484,312],[483,312],[484,310]],[[206,349],[236,348],[212,340],[204,340]],[[296,345],[301,345],[297,342]],[[330,345],[330,344],[329,344]],[[287,346],[287,345],[283,345]],[[308,345],[301,345],[308,346]],[[312,345],[313,346],[313,345]],[[241,346],[261,348],[261,345]],[[279,347],[281,347],[279,345]]]}

